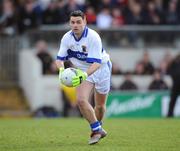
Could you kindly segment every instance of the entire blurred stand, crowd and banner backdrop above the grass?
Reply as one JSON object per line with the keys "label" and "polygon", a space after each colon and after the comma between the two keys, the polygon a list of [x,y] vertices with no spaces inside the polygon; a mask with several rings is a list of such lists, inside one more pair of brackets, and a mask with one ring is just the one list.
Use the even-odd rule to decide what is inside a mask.
{"label": "entire blurred stand, crowd and banner backdrop above the grass", "polygon": [[54,64],[77,9],[113,62],[106,117],[180,116],[178,0],[1,0],[0,117],[81,117]]}

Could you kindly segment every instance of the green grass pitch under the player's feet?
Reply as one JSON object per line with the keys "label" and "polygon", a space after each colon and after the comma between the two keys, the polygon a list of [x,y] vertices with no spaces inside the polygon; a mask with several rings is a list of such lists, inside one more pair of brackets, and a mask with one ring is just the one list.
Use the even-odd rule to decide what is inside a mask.
{"label": "green grass pitch under the player's feet", "polygon": [[0,119],[0,151],[180,150],[180,119],[105,119],[104,128],[90,146],[84,119]]}

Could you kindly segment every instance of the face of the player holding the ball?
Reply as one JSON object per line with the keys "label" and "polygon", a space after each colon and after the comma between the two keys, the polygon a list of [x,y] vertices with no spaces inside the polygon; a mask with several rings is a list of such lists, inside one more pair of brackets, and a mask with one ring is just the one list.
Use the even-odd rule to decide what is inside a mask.
{"label": "face of the player holding the ball", "polygon": [[86,21],[85,21],[85,19],[82,19],[82,17],[80,17],[80,16],[78,16],[78,17],[71,16],[71,18],[70,18],[70,26],[71,26],[72,31],[78,37],[81,36],[85,25],[86,25]]}

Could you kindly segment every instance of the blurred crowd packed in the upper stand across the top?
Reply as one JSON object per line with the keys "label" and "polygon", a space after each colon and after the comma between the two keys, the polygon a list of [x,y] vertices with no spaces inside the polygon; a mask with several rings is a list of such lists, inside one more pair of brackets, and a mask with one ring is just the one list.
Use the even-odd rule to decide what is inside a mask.
{"label": "blurred crowd packed in the upper stand across the top", "polygon": [[71,11],[85,12],[98,28],[180,24],[178,0],[1,0],[0,33],[22,34],[41,25],[66,24]]}

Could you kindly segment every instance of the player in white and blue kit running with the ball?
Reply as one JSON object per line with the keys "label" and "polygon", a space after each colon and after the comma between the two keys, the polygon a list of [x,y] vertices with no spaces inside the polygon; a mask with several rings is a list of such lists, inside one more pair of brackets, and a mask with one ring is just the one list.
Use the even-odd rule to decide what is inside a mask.
{"label": "player in white and blue kit running with the ball", "polygon": [[[59,68],[59,77],[64,70],[65,60],[70,60],[76,68],[77,75],[72,83],[76,87],[80,112],[90,124],[91,145],[107,135],[102,128],[102,119],[110,90],[112,64],[102,47],[99,34],[86,26],[86,18],[82,11],[73,11],[69,24],[71,30],[61,39],[56,64]],[[88,102],[91,91],[95,94],[94,108]]]}

